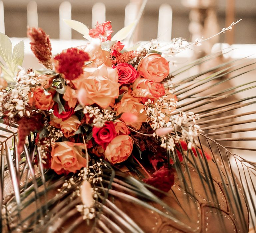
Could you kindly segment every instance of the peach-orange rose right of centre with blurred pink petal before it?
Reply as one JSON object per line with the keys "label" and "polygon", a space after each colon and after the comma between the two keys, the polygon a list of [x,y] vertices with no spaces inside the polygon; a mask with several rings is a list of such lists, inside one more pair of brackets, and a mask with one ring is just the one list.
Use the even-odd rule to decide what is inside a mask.
{"label": "peach-orange rose right of centre with blurred pink petal before it", "polygon": [[124,93],[124,95],[120,102],[118,102],[114,106],[114,110],[117,112],[117,114],[132,113],[136,115],[138,117],[138,120],[137,122],[132,123],[131,125],[139,129],[141,127],[142,122],[146,121],[147,116],[145,112],[140,113],[140,111],[144,108],[144,105],[139,102],[138,98],[131,96],[131,92],[132,90],[128,89],[128,87],[122,87],[120,89],[120,94]]}

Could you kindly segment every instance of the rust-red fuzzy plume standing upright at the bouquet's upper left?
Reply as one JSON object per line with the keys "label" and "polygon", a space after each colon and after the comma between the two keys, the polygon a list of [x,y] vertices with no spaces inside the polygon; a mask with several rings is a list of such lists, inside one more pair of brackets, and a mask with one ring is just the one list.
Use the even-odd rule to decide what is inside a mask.
{"label": "rust-red fuzzy plume standing upright at the bouquet's upper left", "polygon": [[41,28],[28,28],[27,36],[30,38],[30,48],[36,58],[46,69],[52,70],[52,47],[49,36]]}

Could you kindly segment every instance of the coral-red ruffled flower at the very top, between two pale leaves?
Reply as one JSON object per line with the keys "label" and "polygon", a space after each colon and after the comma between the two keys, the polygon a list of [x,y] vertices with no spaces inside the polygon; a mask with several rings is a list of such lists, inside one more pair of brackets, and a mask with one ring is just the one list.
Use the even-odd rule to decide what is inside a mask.
{"label": "coral-red ruffled flower at the very top, between two pale leaves", "polygon": [[89,36],[92,38],[99,38],[101,42],[110,41],[111,33],[113,32],[111,21],[99,24],[97,21],[96,28],[89,30]]}

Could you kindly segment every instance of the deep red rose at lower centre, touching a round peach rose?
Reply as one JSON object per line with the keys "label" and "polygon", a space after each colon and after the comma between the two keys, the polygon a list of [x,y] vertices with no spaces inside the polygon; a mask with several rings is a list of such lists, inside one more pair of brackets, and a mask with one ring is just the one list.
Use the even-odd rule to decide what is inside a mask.
{"label": "deep red rose at lower centre, touching a round peach rose", "polygon": [[116,136],[115,125],[112,121],[105,122],[103,127],[93,127],[92,136],[94,140],[105,150],[107,145]]}

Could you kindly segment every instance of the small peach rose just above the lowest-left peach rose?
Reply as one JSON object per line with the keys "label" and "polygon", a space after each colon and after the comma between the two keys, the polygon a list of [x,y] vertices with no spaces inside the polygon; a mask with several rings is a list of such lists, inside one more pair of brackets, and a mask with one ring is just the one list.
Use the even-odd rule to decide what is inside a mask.
{"label": "small peach rose just above the lowest-left peach rose", "polygon": [[75,132],[78,130],[79,126],[80,126],[80,121],[75,115],[72,115],[68,119],[60,122],[60,128],[65,137],[70,137],[75,135]]}

